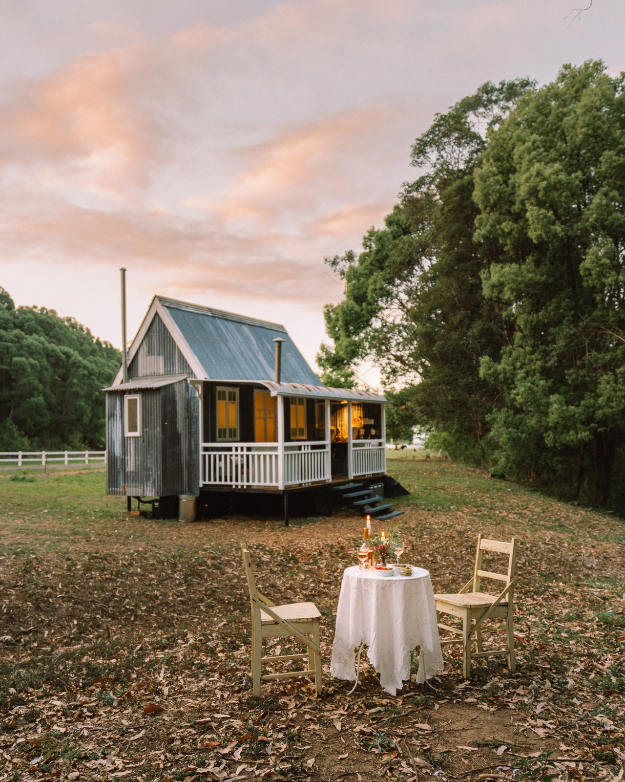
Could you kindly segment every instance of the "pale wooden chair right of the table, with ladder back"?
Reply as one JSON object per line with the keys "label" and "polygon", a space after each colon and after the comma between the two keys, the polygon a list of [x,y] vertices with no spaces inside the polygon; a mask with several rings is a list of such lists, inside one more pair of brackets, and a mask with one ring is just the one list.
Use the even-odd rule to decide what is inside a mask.
{"label": "pale wooden chair right of the table, with ladder back", "polygon": [[[494,573],[482,570],[482,553],[496,551],[498,554],[508,554],[508,572]],[[435,594],[436,620],[441,630],[461,635],[462,639],[441,640],[441,646],[447,644],[463,644],[463,676],[470,679],[471,658],[502,655],[508,658],[508,667],[514,671],[514,627],[513,627],[513,583],[516,567],[516,538],[510,543],[501,540],[488,540],[482,535],[477,536],[477,554],[473,578],[464,585],[458,594]],[[481,591],[481,579],[496,579],[505,582],[505,589],[498,595]],[[470,591],[469,591],[470,590]],[[441,614],[457,616],[463,621],[463,629],[458,630],[441,622]],[[482,624],[486,619],[505,619],[505,634],[507,647],[484,651],[482,647]],[[471,645],[477,644],[477,652],[471,651]]]}

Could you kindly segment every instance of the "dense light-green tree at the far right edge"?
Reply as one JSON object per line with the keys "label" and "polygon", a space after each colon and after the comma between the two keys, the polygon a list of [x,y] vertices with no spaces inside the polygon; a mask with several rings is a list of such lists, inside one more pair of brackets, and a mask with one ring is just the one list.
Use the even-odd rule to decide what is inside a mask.
{"label": "dense light-green tree at the far right edge", "polygon": [[[511,339],[481,375],[500,468],[588,479],[607,504],[625,429],[625,75],[566,65],[521,98],[489,138],[475,178],[477,241],[500,260],[484,292]],[[622,464],[618,465],[622,476]]]}

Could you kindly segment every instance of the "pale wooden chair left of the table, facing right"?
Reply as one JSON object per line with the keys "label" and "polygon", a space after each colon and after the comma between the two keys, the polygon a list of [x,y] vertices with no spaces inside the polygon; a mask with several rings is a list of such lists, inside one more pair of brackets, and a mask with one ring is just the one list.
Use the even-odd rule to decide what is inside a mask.
{"label": "pale wooden chair left of the table, facing right", "polygon": [[[248,577],[249,597],[252,604],[252,680],[254,695],[260,695],[260,683],[271,679],[287,679],[290,676],[314,676],[317,694],[321,693],[321,648],[319,644],[319,620],[321,614],[314,603],[290,603],[276,605],[269,597],[256,589],[252,559],[245,543],[241,543],[245,575]],[[263,657],[263,638],[295,636],[308,647],[301,655]],[[309,669],[288,673],[263,675],[263,663],[309,658]],[[312,659],[311,659],[312,658]],[[311,665],[311,662],[313,665]]]}

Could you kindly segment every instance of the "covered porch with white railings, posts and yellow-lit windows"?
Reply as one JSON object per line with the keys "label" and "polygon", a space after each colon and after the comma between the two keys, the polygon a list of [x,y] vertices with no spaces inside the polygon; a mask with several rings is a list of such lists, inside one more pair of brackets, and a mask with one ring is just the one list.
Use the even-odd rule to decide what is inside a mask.
{"label": "covered porch with white railings, posts and yellow-lit windows", "polygon": [[[384,396],[293,383],[213,386],[199,389],[204,432],[217,434],[201,443],[201,487],[281,491],[386,473]],[[253,439],[234,439],[245,433]]]}

